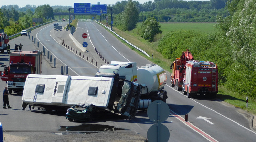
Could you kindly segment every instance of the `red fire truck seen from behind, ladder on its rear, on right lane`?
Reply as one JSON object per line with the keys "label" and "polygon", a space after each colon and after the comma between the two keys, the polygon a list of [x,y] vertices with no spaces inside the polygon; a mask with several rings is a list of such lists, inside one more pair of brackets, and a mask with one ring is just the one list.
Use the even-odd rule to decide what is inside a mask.
{"label": "red fire truck seen from behind, ladder on its rear, on right lane", "polygon": [[182,91],[189,98],[196,94],[216,97],[218,93],[217,64],[209,61],[187,61]]}

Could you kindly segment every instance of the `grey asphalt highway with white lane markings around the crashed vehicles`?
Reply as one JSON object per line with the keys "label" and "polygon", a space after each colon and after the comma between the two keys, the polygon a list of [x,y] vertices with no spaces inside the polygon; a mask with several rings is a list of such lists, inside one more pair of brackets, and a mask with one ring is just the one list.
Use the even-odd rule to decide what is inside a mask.
{"label": "grey asphalt highway with white lane markings around the crashed vehicles", "polygon": [[[67,22],[58,23],[63,27],[67,24]],[[137,62],[138,67],[150,63],[146,58],[119,42],[96,22],[79,21],[78,23],[74,37],[79,42],[86,40],[88,43],[86,48],[88,52],[82,55],[79,55],[81,51],[68,38],[67,33],[54,31],[52,23],[31,32],[31,35],[37,38],[36,42],[40,41],[39,48],[28,36],[15,38],[10,41],[10,45],[12,48],[15,43],[21,43],[24,51],[42,50],[45,46],[46,56],[43,56],[42,74],[59,75],[60,67],[68,66],[68,75],[93,76],[99,65],[96,66],[95,62],[91,63],[82,55],[102,64],[94,48],[101,52],[107,61],[132,61]],[[82,33],[87,33],[88,38],[83,39]],[[65,44],[73,48],[73,51],[61,44],[63,39]],[[53,68],[53,64],[47,58],[47,51],[57,58],[56,68]],[[9,56],[6,53],[0,56],[0,63],[7,64]],[[168,73],[165,90],[168,94],[167,104],[170,108],[170,116],[163,124],[170,132],[169,141],[255,141],[256,133],[252,129],[252,115],[218,98],[209,99],[203,96],[187,98],[170,87],[169,79]],[[1,81],[0,84],[4,89],[5,82]],[[144,141],[147,138],[147,130],[153,125],[145,111],[139,111],[136,118],[132,120],[110,116],[90,123],[68,122],[63,113],[28,110],[28,108],[25,111],[21,110],[21,95],[21,92],[17,92],[9,96],[11,109],[0,108],[0,122],[3,125],[6,141]],[[184,122],[185,114],[188,114],[187,122]],[[90,133],[88,129],[83,131],[85,125],[92,125],[89,127],[91,129],[97,125],[99,129],[108,125],[126,130]]]}

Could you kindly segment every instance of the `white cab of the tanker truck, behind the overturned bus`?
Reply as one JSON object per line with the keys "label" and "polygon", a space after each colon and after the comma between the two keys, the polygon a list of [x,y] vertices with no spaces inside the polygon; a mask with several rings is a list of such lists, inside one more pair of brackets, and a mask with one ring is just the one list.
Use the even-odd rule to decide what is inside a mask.
{"label": "white cab of the tanker truck, behind the overturned bus", "polygon": [[110,64],[100,66],[96,77],[112,77],[121,80],[137,81],[136,62],[111,61]]}

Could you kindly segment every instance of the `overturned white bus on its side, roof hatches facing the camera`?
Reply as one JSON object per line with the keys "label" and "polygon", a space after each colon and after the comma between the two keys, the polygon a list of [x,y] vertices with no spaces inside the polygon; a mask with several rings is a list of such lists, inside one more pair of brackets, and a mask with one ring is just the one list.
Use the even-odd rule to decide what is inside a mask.
{"label": "overturned white bus on its side, roof hatches facing the camera", "polygon": [[37,75],[26,78],[22,107],[66,111],[78,103],[93,104],[116,114],[135,117],[141,85],[117,78]]}

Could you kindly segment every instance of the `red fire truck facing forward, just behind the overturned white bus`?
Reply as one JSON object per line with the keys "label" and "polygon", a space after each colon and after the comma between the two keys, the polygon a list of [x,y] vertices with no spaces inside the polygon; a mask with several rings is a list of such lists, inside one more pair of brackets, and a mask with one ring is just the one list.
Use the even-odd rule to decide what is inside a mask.
{"label": "red fire truck facing forward, just behind the overturned white bus", "polygon": [[22,91],[24,89],[26,77],[28,74],[42,73],[42,52],[20,51],[15,50],[10,53],[10,66],[4,66],[4,71],[1,72],[0,78],[3,81],[8,81],[8,91]]}

